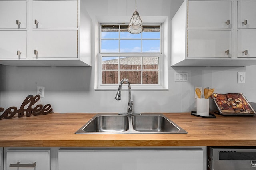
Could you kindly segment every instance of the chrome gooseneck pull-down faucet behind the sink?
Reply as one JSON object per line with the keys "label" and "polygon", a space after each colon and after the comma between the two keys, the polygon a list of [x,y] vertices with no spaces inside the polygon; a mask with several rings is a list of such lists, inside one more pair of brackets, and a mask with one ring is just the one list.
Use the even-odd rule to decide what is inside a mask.
{"label": "chrome gooseneck pull-down faucet behind the sink", "polygon": [[126,82],[128,85],[128,107],[127,107],[127,113],[119,113],[119,114],[128,114],[128,115],[140,115],[140,113],[133,113],[133,101],[132,101],[132,89],[131,89],[131,85],[128,79],[122,79],[119,83],[119,87],[118,87],[118,91],[116,93],[116,100],[121,100],[121,91],[122,91],[122,85],[123,83]]}

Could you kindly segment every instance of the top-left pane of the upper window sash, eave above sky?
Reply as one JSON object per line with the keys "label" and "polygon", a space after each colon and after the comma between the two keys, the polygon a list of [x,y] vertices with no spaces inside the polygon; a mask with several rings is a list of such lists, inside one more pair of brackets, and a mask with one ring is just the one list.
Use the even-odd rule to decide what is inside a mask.
{"label": "top-left pane of the upper window sash, eave above sky", "polygon": [[119,25],[102,25],[101,26],[102,39],[118,39],[119,38]]}

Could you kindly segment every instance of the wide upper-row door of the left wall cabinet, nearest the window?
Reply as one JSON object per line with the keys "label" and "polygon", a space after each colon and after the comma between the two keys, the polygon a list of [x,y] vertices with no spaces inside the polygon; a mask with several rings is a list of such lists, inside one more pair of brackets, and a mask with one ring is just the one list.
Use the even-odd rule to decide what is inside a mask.
{"label": "wide upper-row door of the left wall cabinet, nearest the window", "polygon": [[77,28],[77,23],[77,0],[33,1],[33,28]]}

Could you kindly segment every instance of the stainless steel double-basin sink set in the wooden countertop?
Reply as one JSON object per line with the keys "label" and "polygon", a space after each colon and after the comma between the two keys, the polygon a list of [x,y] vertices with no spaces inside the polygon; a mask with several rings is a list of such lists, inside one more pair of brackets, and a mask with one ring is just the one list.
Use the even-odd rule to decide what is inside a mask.
{"label": "stainless steel double-basin sink set in the wooden countertop", "polygon": [[95,115],[75,134],[186,134],[187,132],[162,114]]}

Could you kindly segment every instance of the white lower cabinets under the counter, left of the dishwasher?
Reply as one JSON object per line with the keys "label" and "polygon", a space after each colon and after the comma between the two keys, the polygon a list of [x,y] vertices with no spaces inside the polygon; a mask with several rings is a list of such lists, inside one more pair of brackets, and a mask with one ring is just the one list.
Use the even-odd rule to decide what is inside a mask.
{"label": "white lower cabinets under the counter, left of the dishwasher", "polygon": [[206,146],[0,147],[0,170],[206,170]]}

